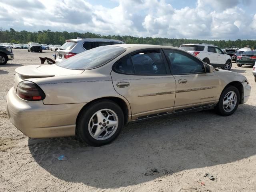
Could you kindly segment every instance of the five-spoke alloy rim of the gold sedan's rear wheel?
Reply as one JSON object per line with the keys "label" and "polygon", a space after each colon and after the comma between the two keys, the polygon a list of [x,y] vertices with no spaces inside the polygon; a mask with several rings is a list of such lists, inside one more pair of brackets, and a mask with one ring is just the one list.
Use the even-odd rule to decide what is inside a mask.
{"label": "five-spoke alloy rim of the gold sedan's rear wheel", "polygon": [[89,120],[88,130],[96,140],[110,138],[118,128],[118,116],[111,109],[101,109],[92,115]]}

